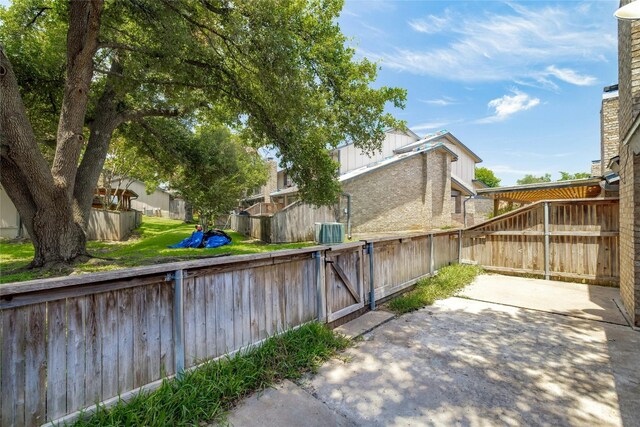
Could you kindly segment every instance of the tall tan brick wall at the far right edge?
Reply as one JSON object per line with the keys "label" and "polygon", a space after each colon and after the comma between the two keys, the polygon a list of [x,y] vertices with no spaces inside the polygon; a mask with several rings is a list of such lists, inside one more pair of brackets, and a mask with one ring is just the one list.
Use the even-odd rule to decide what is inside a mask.
{"label": "tall tan brick wall at the far right edge", "polygon": [[[622,0],[620,5],[630,3]],[[622,142],[640,111],[640,22],[618,21],[618,123]],[[640,136],[636,136],[640,137]],[[640,325],[640,159],[620,145],[620,295]]]}

